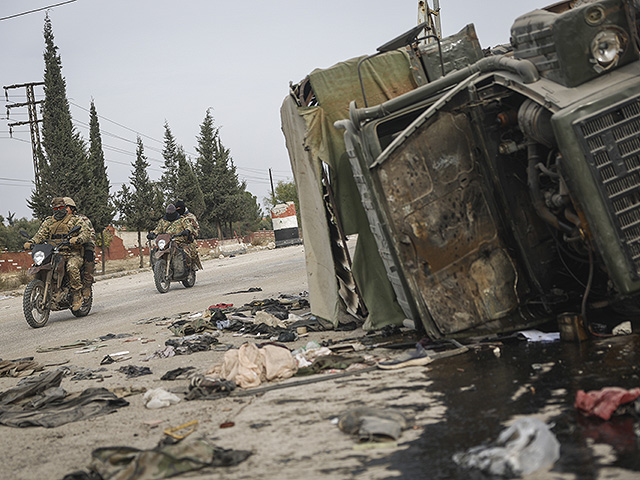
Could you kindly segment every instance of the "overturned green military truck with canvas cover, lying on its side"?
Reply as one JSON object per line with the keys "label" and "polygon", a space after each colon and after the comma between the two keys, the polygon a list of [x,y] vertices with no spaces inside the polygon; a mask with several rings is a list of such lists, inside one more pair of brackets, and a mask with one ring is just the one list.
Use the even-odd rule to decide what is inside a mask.
{"label": "overturned green military truck with canvas cover, lying on its side", "polygon": [[434,339],[637,316],[638,14],[560,2],[485,50],[418,26],[291,85],[312,312]]}

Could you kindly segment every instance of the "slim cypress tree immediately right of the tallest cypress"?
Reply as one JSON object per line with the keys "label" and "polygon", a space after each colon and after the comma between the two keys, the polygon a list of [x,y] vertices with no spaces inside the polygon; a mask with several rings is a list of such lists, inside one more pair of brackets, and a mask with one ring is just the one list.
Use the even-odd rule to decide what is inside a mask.
{"label": "slim cypress tree immediately right of the tallest cypress", "polygon": [[102,273],[104,273],[104,229],[112,222],[114,210],[109,200],[109,178],[107,177],[107,167],[104,161],[98,113],[93,100],[91,100],[91,108],[89,109],[89,168],[91,169],[93,189],[91,190],[91,203],[85,206],[84,213],[89,217],[93,228],[95,228],[100,237]]}

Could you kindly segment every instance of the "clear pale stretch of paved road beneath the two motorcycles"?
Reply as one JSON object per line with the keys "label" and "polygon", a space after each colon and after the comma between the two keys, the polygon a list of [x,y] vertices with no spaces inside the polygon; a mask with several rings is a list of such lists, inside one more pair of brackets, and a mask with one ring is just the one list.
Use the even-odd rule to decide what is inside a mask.
{"label": "clear pale stretch of paved road beneath the two motorcycles", "polygon": [[[52,312],[47,325],[39,329],[29,327],[24,319],[22,297],[0,300],[0,358],[17,359],[33,355],[39,346],[96,338],[121,331],[125,325],[129,327],[132,321],[143,318],[202,311],[222,302],[243,304],[307,289],[302,246],[207,260],[203,266],[193,288],[175,283],[165,294],[156,290],[151,270],[98,281],[89,316],[76,318],[68,310]],[[250,287],[260,287],[262,291],[225,295]]]}

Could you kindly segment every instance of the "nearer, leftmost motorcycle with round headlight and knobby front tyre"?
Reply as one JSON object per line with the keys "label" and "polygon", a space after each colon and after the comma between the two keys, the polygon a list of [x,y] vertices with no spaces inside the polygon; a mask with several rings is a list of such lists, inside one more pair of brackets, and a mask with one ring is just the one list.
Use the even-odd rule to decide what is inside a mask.
{"label": "nearer, leftmost motorcycle with round headlight and knobby front tyre", "polygon": [[[29,267],[27,273],[34,278],[24,289],[22,311],[27,323],[33,328],[44,327],[51,311],[68,308],[76,317],[85,317],[91,311],[93,290],[89,298],[83,300],[79,310],[71,309],[73,292],[67,275],[67,262],[64,255],[60,253],[60,247],[69,245],[69,239],[79,230],[80,226],[73,227],[69,233],[64,234],[60,244],[45,241],[36,243],[31,248],[33,265]],[[29,238],[24,231],[20,234]]]}

